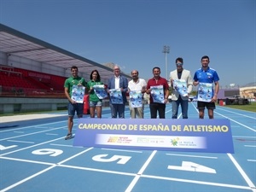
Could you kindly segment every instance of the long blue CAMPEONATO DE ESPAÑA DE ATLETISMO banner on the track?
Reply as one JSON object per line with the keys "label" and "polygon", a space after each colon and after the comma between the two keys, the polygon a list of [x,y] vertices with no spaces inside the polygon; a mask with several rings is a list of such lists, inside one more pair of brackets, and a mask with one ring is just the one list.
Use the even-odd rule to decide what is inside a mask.
{"label": "long blue CAMPEONATO DE ESPA\u00d1A DE ATLETISMO banner on the track", "polygon": [[229,119],[79,119],[74,146],[234,153]]}

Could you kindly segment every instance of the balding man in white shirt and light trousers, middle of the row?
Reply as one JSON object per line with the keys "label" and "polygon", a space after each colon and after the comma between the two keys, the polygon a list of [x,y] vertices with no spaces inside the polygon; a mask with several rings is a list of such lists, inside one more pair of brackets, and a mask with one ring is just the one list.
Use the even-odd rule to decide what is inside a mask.
{"label": "balding man in white shirt and light trousers, middle of the row", "polygon": [[[135,108],[132,105],[131,101],[131,96],[130,96],[130,101],[129,101],[129,107],[130,107],[130,113],[131,113],[131,118],[132,119],[143,119],[144,118],[144,101],[143,101],[143,95],[146,91],[146,86],[147,83],[144,79],[139,79],[138,78],[138,71],[137,70],[133,70],[131,72],[131,76],[132,76],[132,80],[129,81],[128,83],[128,93],[130,94],[131,91],[140,91],[142,93],[142,98],[138,98],[138,101],[141,101],[142,107],[137,107]],[[140,100],[142,99],[142,100]]]}

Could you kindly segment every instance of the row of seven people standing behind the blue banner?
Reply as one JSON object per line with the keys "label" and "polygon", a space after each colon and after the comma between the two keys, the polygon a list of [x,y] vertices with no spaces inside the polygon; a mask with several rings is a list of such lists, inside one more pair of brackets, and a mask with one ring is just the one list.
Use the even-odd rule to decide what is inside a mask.
{"label": "row of seven people standing behind the blue banner", "polygon": [[[215,109],[215,102],[217,101],[219,84],[218,84],[218,73],[209,67],[210,59],[207,55],[201,57],[201,68],[196,70],[194,78],[192,79],[191,73],[189,70],[183,68],[183,58],[178,57],[176,59],[176,69],[170,73],[170,82],[172,86],[172,119],[177,119],[177,113],[179,105],[182,109],[183,119],[188,119],[188,108],[189,108],[189,94],[192,91],[192,87],[199,84],[214,84],[215,87],[211,87],[212,90],[209,90],[210,96],[209,102],[198,101],[197,108],[199,110],[199,118],[204,118],[204,110],[207,108],[209,119],[213,119],[213,109]],[[72,99],[73,85],[84,86],[85,93],[89,94],[89,105],[90,105],[90,117],[95,118],[95,112],[97,118],[102,118],[102,99],[98,98],[94,90],[94,85],[103,84],[101,81],[100,74],[97,70],[93,70],[90,73],[90,81],[85,82],[84,78],[79,77],[78,67],[71,67],[72,76],[65,81],[64,89],[65,95],[68,99],[68,133],[65,139],[70,139],[73,137],[72,128],[73,128],[73,117],[75,112],[77,112],[78,118],[83,116],[84,104],[77,103]],[[153,78],[148,79],[148,83],[144,79],[139,78],[139,73],[137,70],[131,72],[131,81],[128,82],[124,76],[120,74],[119,66],[113,67],[113,77],[108,79],[108,87],[104,87],[108,94],[111,93],[111,90],[117,90],[121,92],[122,102],[113,103],[109,99],[109,106],[111,109],[112,118],[119,117],[120,119],[125,118],[125,103],[127,102],[126,94],[130,94],[131,91],[139,91],[142,98],[146,93],[149,97],[149,109],[151,119],[156,119],[157,114],[160,119],[166,118],[166,103],[168,102],[169,97],[169,84],[167,79],[160,76],[160,67],[153,68]],[[181,94],[180,90],[177,88],[177,82],[183,82],[185,84],[185,95]],[[161,102],[155,102],[154,88],[158,88],[160,91],[158,95],[162,97]],[[131,118],[144,118],[144,102],[141,103],[140,107],[133,107],[131,100],[129,101]]]}

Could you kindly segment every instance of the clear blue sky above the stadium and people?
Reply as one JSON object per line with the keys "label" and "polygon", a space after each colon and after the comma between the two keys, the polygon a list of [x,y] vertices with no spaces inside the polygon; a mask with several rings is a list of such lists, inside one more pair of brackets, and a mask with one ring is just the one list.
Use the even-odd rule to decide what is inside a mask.
{"label": "clear blue sky above the stadium and people", "polygon": [[255,0],[0,0],[3,25],[143,79],[166,78],[164,45],[168,76],[208,55],[222,87],[256,81],[255,17]]}

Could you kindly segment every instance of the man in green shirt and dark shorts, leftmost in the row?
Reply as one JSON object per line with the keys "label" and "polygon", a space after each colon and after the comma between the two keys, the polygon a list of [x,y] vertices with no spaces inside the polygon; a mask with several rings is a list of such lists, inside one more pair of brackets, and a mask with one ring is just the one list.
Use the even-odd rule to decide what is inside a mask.
{"label": "man in green shirt and dark shorts, leftmost in the row", "polygon": [[[67,112],[68,112],[68,119],[67,119],[67,137],[65,139],[71,139],[73,138],[72,134],[72,128],[73,128],[73,116],[75,113],[77,113],[78,118],[83,117],[84,113],[84,92],[80,93],[81,97],[83,97],[83,102],[76,100],[73,97],[73,85],[78,85],[79,90],[82,90],[80,88],[85,87],[85,90],[87,89],[87,83],[85,82],[84,78],[79,77],[79,69],[76,66],[71,67],[71,73],[72,76],[68,79],[66,79],[64,84],[64,91],[65,96],[68,99],[68,105],[67,105]],[[77,88],[77,86],[74,86]]]}

